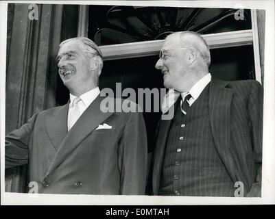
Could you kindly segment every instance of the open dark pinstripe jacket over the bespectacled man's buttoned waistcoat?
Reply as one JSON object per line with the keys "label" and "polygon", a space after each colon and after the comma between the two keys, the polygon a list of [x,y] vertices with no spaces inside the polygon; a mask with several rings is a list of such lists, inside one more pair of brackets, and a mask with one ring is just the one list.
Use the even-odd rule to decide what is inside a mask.
{"label": "open dark pinstripe jacket over the bespectacled man's buttoned waistcoat", "polygon": [[[212,77],[209,118],[215,147],[244,196],[261,196],[263,88],[258,81],[221,81]],[[171,120],[160,120],[152,159],[152,193],[158,194]]]}

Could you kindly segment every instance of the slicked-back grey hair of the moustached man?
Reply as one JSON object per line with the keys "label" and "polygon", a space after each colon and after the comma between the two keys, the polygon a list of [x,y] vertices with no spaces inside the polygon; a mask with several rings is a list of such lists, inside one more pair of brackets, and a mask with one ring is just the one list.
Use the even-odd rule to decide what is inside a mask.
{"label": "slicked-back grey hair of the moustached man", "polygon": [[73,40],[79,40],[80,42],[82,42],[83,46],[82,45],[80,46],[80,49],[82,49],[82,51],[99,56],[100,57],[100,68],[103,67],[103,60],[102,60],[103,55],[101,53],[101,50],[99,49],[97,44],[95,44],[95,42],[93,42],[93,40],[91,40],[89,38],[86,38],[83,36],[70,38],[70,39],[62,41],[59,44],[59,47],[62,47],[62,44],[65,44],[66,42],[71,42]]}

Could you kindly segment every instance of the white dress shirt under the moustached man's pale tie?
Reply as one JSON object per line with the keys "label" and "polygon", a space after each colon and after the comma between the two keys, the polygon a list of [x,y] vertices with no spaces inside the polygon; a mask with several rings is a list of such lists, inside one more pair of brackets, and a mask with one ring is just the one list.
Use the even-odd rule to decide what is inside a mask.
{"label": "white dress shirt under the moustached man's pale tie", "polygon": [[[88,106],[93,103],[93,101],[97,98],[97,96],[99,95],[100,90],[99,88],[94,88],[93,90],[89,90],[88,92],[80,95],[80,99],[81,101],[79,101],[77,103],[79,110],[80,110],[80,115],[79,117],[83,114],[83,112],[88,108]],[[68,131],[69,131],[69,124],[70,120],[71,120],[71,112],[72,112],[72,107],[73,107],[73,100],[76,98],[77,96],[74,96],[73,94],[70,93],[70,104],[69,104],[69,112],[68,112]],[[79,118],[78,117],[78,118]]]}

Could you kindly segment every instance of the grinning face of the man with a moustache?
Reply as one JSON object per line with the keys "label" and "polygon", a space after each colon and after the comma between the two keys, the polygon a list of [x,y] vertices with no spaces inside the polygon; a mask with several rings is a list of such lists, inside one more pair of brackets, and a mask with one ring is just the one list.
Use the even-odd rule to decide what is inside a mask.
{"label": "grinning face of the man with a moustache", "polygon": [[59,75],[67,88],[86,86],[91,79],[91,57],[83,51],[79,40],[62,44],[58,51]]}

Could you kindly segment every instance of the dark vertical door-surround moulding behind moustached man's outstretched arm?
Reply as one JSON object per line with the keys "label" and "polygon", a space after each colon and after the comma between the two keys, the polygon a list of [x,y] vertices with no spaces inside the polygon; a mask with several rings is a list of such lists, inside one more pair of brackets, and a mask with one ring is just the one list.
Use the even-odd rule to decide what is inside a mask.
{"label": "dark vertical door-surround moulding behind moustached man's outstretched arm", "polygon": [[[10,55],[6,73],[6,133],[21,127],[36,112],[45,110],[47,100],[56,97],[51,81],[56,81],[52,58],[60,43],[62,6],[38,5],[38,20],[29,20],[27,4],[15,4]],[[58,29],[59,27],[59,29]],[[55,64],[56,65],[56,64]],[[51,77],[49,77],[51,76]],[[27,165],[5,172],[5,192],[25,192]]]}

